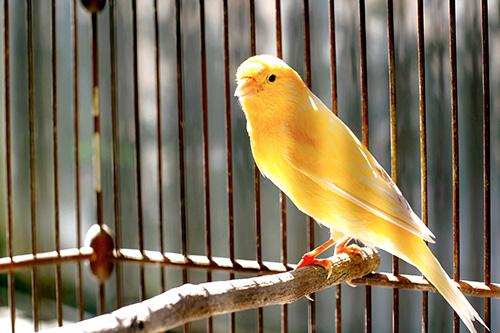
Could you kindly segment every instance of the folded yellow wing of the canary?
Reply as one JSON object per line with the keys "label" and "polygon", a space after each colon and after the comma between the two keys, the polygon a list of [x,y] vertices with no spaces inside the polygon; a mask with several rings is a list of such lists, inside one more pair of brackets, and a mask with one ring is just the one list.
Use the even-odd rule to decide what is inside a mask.
{"label": "folded yellow wing of the canary", "polygon": [[396,184],[351,132],[311,93],[289,119],[285,160],[322,188],[434,243]]}

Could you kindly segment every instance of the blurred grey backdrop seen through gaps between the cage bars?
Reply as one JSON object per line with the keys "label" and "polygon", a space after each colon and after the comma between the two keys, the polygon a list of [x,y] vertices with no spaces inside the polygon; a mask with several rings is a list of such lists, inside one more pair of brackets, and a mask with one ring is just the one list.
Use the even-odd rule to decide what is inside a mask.
{"label": "blurred grey backdrop seen through gaps between the cage bars", "polygon": [[[0,1],[0,17],[4,17],[4,1]],[[110,15],[109,0],[98,15],[99,45],[99,108],[101,111],[101,168],[104,222],[114,226]],[[59,130],[59,205],[61,247],[77,244],[76,195],[74,160],[74,71],[73,11],[77,12],[77,80],[79,107],[79,162],[81,232],[95,223],[96,202],[93,188],[92,162],[92,47],[91,19],[79,1],[56,1],[57,48],[51,46],[51,6],[48,0],[33,2],[34,31],[34,114],[36,154],[36,214],[38,220],[38,251],[54,250],[54,179],[51,105],[51,57],[57,57],[57,116]],[[361,138],[361,102],[359,69],[359,2],[335,1],[336,51],[338,80],[338,113],[353,132]],[[416,1],[395,1],[395,60],[397,92],[397,135],[399,185],[420,215],[420,151],[419,95],[417,66]],[[304,77],[304,20],[302,1],[282,1],[282,36],[284,60]],[[28,135],[28,57],[26,2],[9,1],[10,14],[10,84],[11,140],[13,167],[13,237],[14,254],[31,252],[30,176]],[[428,144],[428,213],[429,227],[437,236],[431,248],[451,275],[453,272],[452,158],[451,106],[449,65],[448,3],[424,1],[425,21],[425,84]],[[200,58],[199,2],[181,1],[182,29],[182,98],[184,111],[184,157],[186,179],[186,212],[188,253],[205,254],[204,187],[202,146],[202,91]],[[500,1],[489,1],[490,93],[491,93],[491,202],[492,202],[492,281],[500,281]],[[312,91],[331,106],[330,32],[328,2],[310,1],[310,33]],[[276,54],[276,20],[274,1],[256,0],[257,53]],[[122,247],[138,248],[137,188],[134,130],[134,78],[132,50],[132,6],[130,1],[116,1],[118,146],[120,173],[120,204],[118,216],[122,223]],[[158,1],[161,131],[163,187],[158,188],[156,74],[154,3],[138,1],[138,103],[140,110],[142,207],[145,248],[159,250],[159,191],[164,212],[165,250],[181,252],[180,175],[177,111],[177,58],[175,2]],[[253,159],[246,133],[244,115],[232,97],[237,66],[250,56],[249,2],[229,1],[229,59],[231,91],[231,136],[233,143],[233,195],[235,221],[235,255],[255,259],[255,194]],[[479,1],[456,2],[456,36],[458,68],[458,124],[460,167],[460,277],[483,279],[483,166],[482,166],[482,88],[481,88],[481,12]],[[387,13],[384,0],[366,1],[366,39],[368,61],[368,110],[370,150],[390,173],[389,75],[387,60]],[[212,223],[212,254],[229,256],[228,200],[226,169],[223,3],[205,1],[206,56],[208,80],[210,218]],[[0,36],[4,48],[4,34]],[[4,52],[0,58],[0,257],[7,256],[6,247],[6,151],[5,151],[5,67]],[[280,261],[279,191],[261,177],[262,251],[266,261]],[[288,201],[288,259],[297,262],[307,251],[306,217]],[[329,237],[327,229],[316,227],[316,244]],[[383,253],[379,271],[391,271],[391,256]],[[146,294],[161,292],[160,268],[146,266]],[[54,268],[39,270],[39,302],[42,328],[56,324]],[[30,270],[15,273],[15,296],[18,330],[32,328]],[[165,268],[166,286],[182,284],[182,270]],[[401,273],[419,274],[401,263]],[[62,265],[64,319],[75,321],[76,265]],[[140,300],[139,268],[125,264],[123,301]],[[236,274],[236,277],[243,277]],[[206,273],[189,271],[191,283],[204,282]],[[214,272],[214,279],[228,279],[228,273]],[[115,278],[106,282],[106,309],[116,307]],[[97,313],[97,283],[88,269],[83,279],[85,316]],[[342,286],[342,325],[345,332],[364,331],[365,288]],[[8,327],[7,274],[0,274],[0,322]],[[400,291],[400,327],[402,332],[420,331],[421,293]],[[470,298],[482,314],[483,301]],[[388,332],[392,322],[392,290],[373,288],[374,332]],[[289,331],[307,330],[307,300],[289,306]],[[316,297],[318,332],[335,330],[334,290],[325,290]],[[281,308],[264,309],[265,332],[280,331]],[[492,300],[491,331],[500,331],[500,301]],[[257,311],[236,314],[236,331],[254,332]],[[5,321],[5,324],[3,323]],[[430,332],[449,332],[453,313],[444,300],[429,294]],[[7,326],[6,326],[7,325]],[[26,326],[24,326],[26,325]],[[228,330],[228,316],[214,318],[216,332]],[[194,332],[204,331],[205,322],[190,325]],[[174,331],[180,331],[176,329]],[[462,331],[465,329],[462,327]]]}

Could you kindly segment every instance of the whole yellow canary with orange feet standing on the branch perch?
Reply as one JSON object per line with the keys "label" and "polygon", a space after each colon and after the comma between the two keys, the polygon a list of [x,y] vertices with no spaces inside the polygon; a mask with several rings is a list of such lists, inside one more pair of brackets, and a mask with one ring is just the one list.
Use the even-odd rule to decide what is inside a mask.
{"label": "whole yellow canary with orange feet standing on the branch perch", "polygon": [[417,267],[458,313],[467,328],[481,317],[443,270],[424,241],[434,235],[413,212],[396,184],[351,132],[283,60],[258,55],[237,72],[252,154],[260,172],[304,213],[331,231],[330,239],[306,253],[298,267],[335,246],[358,252],[358,239]]}

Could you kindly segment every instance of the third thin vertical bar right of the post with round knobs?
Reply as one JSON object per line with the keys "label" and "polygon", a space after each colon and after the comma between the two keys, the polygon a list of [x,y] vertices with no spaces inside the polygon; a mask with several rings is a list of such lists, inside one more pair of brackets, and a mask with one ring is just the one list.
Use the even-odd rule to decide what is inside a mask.
{"label": "third thin vertical bar right of the post with round knobs", "polygon": [[[154,0],[154,26],[155,26],[155,76],[156,76],[156,172],[158,173],[158,237],[160,252],[165,252],[163,242],[163,160],[162,160],[162,135],[161,135],[161,76],[160,76],[160,32],[158,24],[158,0]],[[160,268],[160,287],[165,291],[165,271]]]}

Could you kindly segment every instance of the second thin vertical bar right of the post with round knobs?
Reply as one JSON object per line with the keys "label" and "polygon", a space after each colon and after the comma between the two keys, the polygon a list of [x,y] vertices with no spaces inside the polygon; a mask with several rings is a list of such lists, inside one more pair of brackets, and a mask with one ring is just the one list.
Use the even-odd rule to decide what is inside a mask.
{"label": "second thin vertical bar right of the post with round knobs", "polygon": [[[137,231],[139,233],[139,251],[144,252],[144,223],[142,213],[142,179],[141,179],[141,117],[139,110],[139,78],[137,65],[137,4],[132,0],[132,47],[134,70],[134,132],[135,132],[135,170],[137,187]],[[144,265],[139,266],[141,281],[141,300],[146,299],[146,277]]]}

